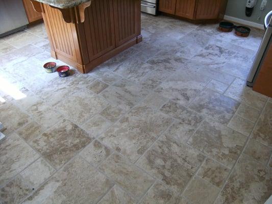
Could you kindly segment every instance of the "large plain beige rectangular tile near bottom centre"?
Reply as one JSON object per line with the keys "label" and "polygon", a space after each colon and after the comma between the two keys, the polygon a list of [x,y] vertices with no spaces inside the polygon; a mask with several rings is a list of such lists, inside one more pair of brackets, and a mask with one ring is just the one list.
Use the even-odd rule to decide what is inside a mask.
{"label": "large plain beige rectangular tile near bottom centre", "polygon": [[151,176],[116,154],[108,158],[107,162],[100,166],[100,170],[137,200],[154,183]]}

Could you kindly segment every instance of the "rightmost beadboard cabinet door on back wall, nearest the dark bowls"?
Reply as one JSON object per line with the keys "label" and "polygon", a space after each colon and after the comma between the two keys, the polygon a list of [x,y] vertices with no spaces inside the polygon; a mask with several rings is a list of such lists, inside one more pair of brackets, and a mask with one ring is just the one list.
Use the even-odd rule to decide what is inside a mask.
{"label": "rightmost beadboard cabinet door on back wall, nearest the dark bowls", "polygon": [[197,0],[195,19],[216,19],[220,3],[219,0]]}

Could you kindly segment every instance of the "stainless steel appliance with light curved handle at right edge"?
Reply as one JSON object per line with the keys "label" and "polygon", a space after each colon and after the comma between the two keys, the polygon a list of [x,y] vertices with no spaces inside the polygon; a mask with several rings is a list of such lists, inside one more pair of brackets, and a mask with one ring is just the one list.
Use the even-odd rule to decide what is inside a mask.
{"label": "stainless steel appliance with light curved handle at right edge", "polygon": [[258,77],[259,70],[261,68],[263,59],[266,55],[267,49],[272,43],[272,11],[270,11],[264,18],[264,28],[266,29],[265,34],[263,36],[261,45],[258,49],[257,55],[251,67],[251,71],[248,75],[248,79],[246,80],[246,85],[253,86],[256,78]]}

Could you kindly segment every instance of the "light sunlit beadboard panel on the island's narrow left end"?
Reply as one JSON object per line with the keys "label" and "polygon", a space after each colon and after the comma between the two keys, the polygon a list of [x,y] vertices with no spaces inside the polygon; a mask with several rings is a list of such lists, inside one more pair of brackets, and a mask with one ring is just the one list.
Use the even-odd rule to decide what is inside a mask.
{"label": "light sunlit beadboard panel on the island's narrow left end", "polygon": [[44,11],[55,52],[66,58],[76,60],[76,45],[72,35],[75,32],[75,25],[66,23],[58,9],[44,4]]}

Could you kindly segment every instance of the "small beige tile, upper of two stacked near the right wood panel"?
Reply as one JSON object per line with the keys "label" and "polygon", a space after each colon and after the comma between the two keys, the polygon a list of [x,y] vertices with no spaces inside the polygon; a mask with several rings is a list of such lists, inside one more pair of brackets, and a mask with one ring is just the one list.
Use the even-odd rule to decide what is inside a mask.
{"label": "small beige tile, upper of two stacked near the right wood panel", "polygon": [[245,119],[256,122],[258,120],[259,115],[261,114],[261,111],[250,106],[247,106],[245,104],[240,104],[238,110],[236,111],[236,114]]}

